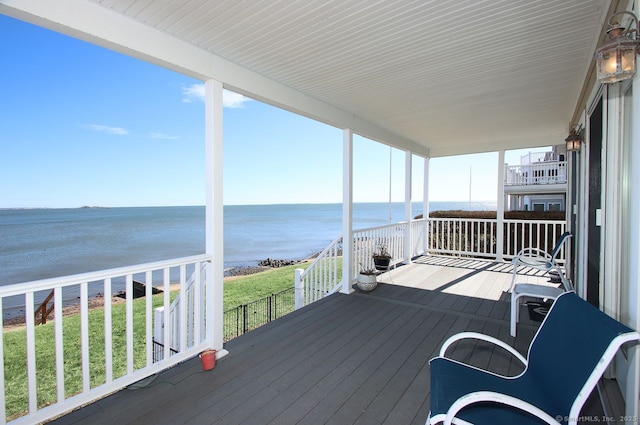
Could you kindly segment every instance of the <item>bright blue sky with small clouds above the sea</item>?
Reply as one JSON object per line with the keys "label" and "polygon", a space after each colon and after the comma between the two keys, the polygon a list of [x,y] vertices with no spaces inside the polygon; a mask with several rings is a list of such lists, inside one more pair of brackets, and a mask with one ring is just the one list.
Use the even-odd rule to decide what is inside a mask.
{"label": "bright blue sky with small clouds above the sea", "polygon": [[[204,204],[200,81],[3,15],[0,54],[0,208]],[[341,130],[225,92],[224,140],[225,204],[341,202]],[[356,136],[354,159],[356,202],[404,199],[403,152]],[[497,153],[430,167],[432,201],[469,200],[470,170],[495,201]]]}

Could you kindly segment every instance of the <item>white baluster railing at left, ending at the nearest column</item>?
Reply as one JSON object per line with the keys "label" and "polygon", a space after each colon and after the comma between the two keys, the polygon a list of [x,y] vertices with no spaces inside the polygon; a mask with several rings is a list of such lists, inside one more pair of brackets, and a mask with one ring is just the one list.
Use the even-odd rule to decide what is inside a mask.
{"label": "white baluster railing at left, ending at the nearest column", "polygon": [[[185,299],[186,276],[201,270],[210,260],[208,255],[199,255],[0,287],[0,311],[4,311],[3,303],[15,304],[16,298],[25,306],[25,330],[5,331],[0,340],[0,359],[4,359],[0,362],[0,423],[45,421],[208,348],[205,328],[201,325],[205,315],[204,285],[198,284],[189,295],[194,299],[193,312],[189,313],[195,318],[193,338],[181,338],[178,353],[171,353],[169,344],[165,344],[163,359],[153,361],[154,308],[158,304],[165,307],[164,321],[168,323],[171,284],[180,283],[180,296]],[[133,299],[134,278],[145,283],[144,299]],[[152,285],[156,283],[161,284],[164,294],[152,297]],[[124,306],[111,302],[113,288],[117,286],[125,289]],[[35,300],[51,291],[54,292],[54,320],[36,327]],[[104,314],[89,311],[90,294],[97,292],[105,294]],[[63,296],[73,301],[63,301]],[[70,303],[77,303],[80,313],[63,318],[63,307]],[[187,310],[182,309],[180,315],[181,326],[185,328]],[[165,341],[170,339],[169,332],[169,327],[165,327]],[[189,333],[182,329],[181,335]],[[15,340],[23,342],[7,345]],[[76,347],[77,355],[68,354],[76,352],[70,350],[71,346]],[[13,350],[26,351],[26,363],[7,364]],[[77,366],[78,374],[71,376],[73,365]],[[7,387],[9,382],[12,387]],[[26,396],[20,395],[16,387],[26,388]]]}

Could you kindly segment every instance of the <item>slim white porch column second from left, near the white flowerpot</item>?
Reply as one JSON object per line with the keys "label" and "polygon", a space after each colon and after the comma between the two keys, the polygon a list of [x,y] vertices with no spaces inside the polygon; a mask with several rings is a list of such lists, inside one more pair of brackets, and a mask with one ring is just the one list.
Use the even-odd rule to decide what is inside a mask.
{"label": "slim white porch column second from left, near the white flowerpot", "polygon": [[353,132],[342,131],[342,289],[353,292]]}

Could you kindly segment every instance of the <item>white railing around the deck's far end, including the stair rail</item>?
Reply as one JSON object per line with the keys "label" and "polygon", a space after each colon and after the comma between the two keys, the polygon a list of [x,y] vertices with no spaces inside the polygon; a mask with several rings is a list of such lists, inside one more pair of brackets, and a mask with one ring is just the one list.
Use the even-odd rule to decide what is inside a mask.
{"label": "white railing around the deck's far end, including the stair rail", "polygon": [[[352,276],[373,268],[372,255],[380,245],[391,254],[392,265],[423,254],[508,260],[524,247],[551,252],[566,230],[565,221],[504,220],[504,239],[498,241],[497,226],[496,219],[429,218],[355,230]],[[342,238],[337,238],[306,270],[296,270],[296,309],[340,290],[341,248]],[[564,259],[563,249],[558,261]]]}

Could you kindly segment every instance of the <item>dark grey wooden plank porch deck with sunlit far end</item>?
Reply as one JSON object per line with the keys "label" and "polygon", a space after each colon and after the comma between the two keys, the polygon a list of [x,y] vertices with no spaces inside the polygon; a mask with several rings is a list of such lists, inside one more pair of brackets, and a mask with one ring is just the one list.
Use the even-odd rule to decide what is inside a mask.
{"label": "dark grey wooden plank porch deck with sunlit far end", "polygon": [[[484,332],[526,354],[537,327],[523,311],[518,337],[509,336],[504,264],[422,258],[383,281],[371,293],[335,294],[229,341],[229,355],[211,371],[195,358],[54,423],[424,424],[428,360],[447,337]],[[475,342],[458,343],[452,357],[521,371],[501,350]]]}

